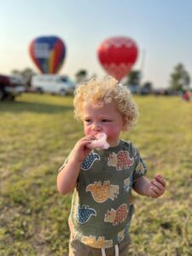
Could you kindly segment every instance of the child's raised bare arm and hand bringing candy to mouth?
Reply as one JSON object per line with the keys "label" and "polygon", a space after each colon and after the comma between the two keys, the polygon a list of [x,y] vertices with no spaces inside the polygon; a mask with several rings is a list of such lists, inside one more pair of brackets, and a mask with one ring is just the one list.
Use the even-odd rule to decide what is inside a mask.
{"label": "child's raised bare arm and hand bringing candy to mouth", "polygon": [[87,146],[91,143],[93,137],[83,137],[75,144],[66,166],[64,166],[57,176],[57,189],[63,195],[66,195],[72,191],[76,184],[79,176],[79,171],[83,160],[91,149]]}

